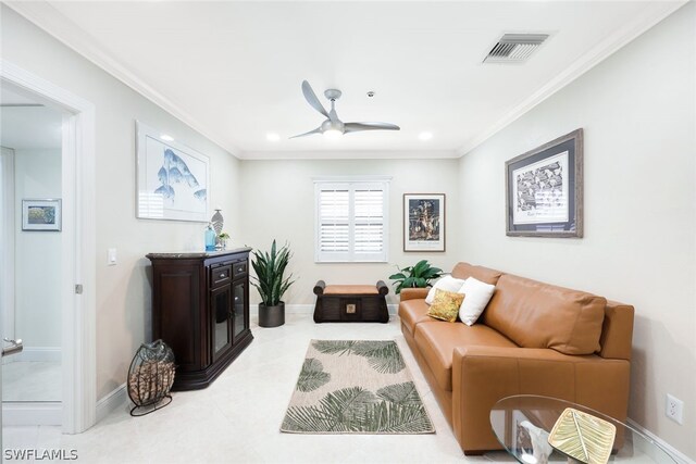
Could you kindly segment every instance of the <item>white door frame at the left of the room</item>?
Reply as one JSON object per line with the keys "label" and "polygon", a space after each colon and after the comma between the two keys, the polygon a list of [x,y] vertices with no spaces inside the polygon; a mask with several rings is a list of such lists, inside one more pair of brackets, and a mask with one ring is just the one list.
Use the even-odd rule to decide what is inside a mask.
{"label": "white door frame at the left of the room", "polygon": [[71,113],[62,150],[62,429],[79,434],[97,411],[95,105],[7,60],[0,78]]}

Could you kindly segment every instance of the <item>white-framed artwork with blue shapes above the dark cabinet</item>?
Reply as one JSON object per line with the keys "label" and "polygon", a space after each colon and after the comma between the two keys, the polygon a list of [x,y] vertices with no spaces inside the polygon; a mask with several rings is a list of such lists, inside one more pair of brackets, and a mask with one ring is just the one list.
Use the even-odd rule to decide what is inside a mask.
{"label": "white-framed artwork with blue shapes above the dark cabinet", "polygon": [[207,222],[210,160],[136,121],[137,217]]}

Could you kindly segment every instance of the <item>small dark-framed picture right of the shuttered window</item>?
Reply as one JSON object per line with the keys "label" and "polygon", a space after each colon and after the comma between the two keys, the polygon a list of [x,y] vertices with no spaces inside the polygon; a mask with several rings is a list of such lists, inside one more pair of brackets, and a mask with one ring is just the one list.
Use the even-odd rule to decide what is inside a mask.
{"label": "small dark-framed picture right of the shuttered window", "polygon": [[445,193],[403,193],[403,251],[445,251]]}

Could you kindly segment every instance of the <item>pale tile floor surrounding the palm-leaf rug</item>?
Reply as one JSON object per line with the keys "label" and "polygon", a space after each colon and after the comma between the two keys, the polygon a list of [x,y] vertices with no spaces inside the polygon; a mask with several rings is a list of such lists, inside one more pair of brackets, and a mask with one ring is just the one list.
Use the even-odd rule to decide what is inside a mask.
{"label": "pale tile floor surrounding the palm-leaf rug", "polygon": [[[253,311],[252,311],[253,312]],[[207,389],[133,418],[121,407],[80,435],[58,427],[5,427],[8,449],[76,450],[80,463],[449,463],[513,462],[504,452],[465,457],[400,334],[388,324],[314,324],[288,314],[254,340]],[[291,435],[278,428],[311,339],[396,339],[437,430],[434,435]],[[41,460],[37,460],[41,462]]]}

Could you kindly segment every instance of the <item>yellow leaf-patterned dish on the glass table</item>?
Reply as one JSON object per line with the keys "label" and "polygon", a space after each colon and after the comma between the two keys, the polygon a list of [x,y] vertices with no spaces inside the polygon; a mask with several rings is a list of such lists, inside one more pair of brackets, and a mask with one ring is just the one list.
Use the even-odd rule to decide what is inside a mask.
{"label": "yellow leaf-patterned dish on the glass table", "polygon": [[567,407],[548,436],[548,442],[563,454],[586,464],[606,464],[617,427],[599,417]]}

